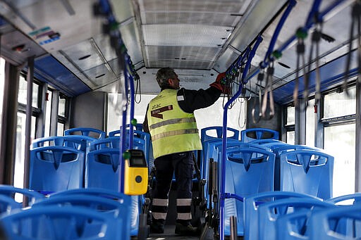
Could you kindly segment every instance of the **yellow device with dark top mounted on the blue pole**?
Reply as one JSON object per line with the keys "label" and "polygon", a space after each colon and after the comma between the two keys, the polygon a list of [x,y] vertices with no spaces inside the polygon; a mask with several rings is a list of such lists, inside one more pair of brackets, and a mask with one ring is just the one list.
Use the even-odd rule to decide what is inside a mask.
{"label": "yellow device with dark top mounted on the blue pole", "polygon": [[148,187],[148,166],[143,151],[130,149],[123,156],[125,160],[124,194],[145,194]]}

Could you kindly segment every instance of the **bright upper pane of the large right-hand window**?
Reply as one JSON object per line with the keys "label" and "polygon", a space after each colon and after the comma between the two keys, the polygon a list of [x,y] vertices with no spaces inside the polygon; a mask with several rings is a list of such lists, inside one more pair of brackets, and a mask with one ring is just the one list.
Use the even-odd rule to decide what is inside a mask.
{"label": "bright upper pane of the large right-hand window", "polygon": [[345,91],[331,93],[324,96],[324,118],[334,118],[356,113],[356,87],[348,89],[350,96]]}

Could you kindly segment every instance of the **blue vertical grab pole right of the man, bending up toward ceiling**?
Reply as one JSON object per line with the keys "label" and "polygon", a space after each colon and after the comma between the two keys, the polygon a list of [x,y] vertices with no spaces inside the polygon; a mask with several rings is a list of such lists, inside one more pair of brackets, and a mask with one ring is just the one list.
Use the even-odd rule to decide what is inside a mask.
{"label": "blue vertical grab pole right of the man, bending up toward ceiling", "polygon": [[[243,56],[247,56],[247,52],[250,51],[250,55],[247,58],[247,63],[245,64],[245,70],[243,70],[242,79],[245,80],[245,77],[247,75],[248,69],[250,68],[252,58],[255,56],[255,53],[257,51],[257,48],[259,44],[262,42],[262,37],[258,36],[257,41],[255,42],[255,46],[253,46],[253,49],[250,51],[250,49],[247,49],[246,53]],[[235,101],[235,99],[240,96],[242,92],[243,84],[240,84],[238,91],[235,93],[235,95],[232,96],[230,100],[227,101],[226,105],[224,106],[224,114],[223,114],[223,127],[222,127],[222,158],[221,158],[221,186],[220,186],[220,200],[219,200],[219,213],[220,213],[220,225],[219,225],[219,232],[221,240],[224,240],[224,194],[225,194],[225,181],[226,181],[226,146],[227,146],[227,112],[228,112],[228,106]]]}

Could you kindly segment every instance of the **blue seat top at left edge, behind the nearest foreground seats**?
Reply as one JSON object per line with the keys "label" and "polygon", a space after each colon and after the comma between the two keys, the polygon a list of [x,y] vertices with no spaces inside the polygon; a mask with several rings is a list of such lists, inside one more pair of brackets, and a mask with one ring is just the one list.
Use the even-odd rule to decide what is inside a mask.
{"label": "blue seat top at left edge, behind the nearest foreground seats", "polygon": [[[0,195],[13,198],[23,207],[32,206],[36,201],[41,201],[45,196],[30,189],[20,189],[11,185],[0,185]],[[17,196],[19,195],[19,197]],[[25,200],[25,201],[23,201]]]}

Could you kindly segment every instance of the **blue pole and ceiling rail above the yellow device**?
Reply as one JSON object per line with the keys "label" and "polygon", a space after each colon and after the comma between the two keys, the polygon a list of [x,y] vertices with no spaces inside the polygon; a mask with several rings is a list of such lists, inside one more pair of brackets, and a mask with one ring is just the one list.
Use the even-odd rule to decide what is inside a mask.
{"label": "blue pole and ceiling rail above the yellow device", "polygon": [[[124,192],[124,168],[125,168],[125,159],[129,158],[128,152],[126,152],[126,120],[128,106],[130,106],[130,130],[129,130],[129,149],[133,148],[133,125],[136,125],[136,120],[134,120],[134,78],[139,79],[137,72],[135,72],[134,65],[128,55],[128,50],[126,45],[121,38],[121,32],[119,31],[119,23],[116,21],[114,14],[111,11],[111,5],[109,0],[99,0],[98,4],[94,4],[94,15],[103,15],[108,20],[108,23],[103,26],[104,32],[108,33],[110,36],[111,46],[116,51],[116,56],[118,56],[118,64],[123,68],[124,74],[124,88],[123,88],[123,106],[122,106],[122,125],[121,125],[121,146],[119,159],[120,161],[120,178],[119,178],[119,191]],[[128,94],[130,94],[130,99],[128,100]],[[125,100],[125,101],[124,101]]]}

